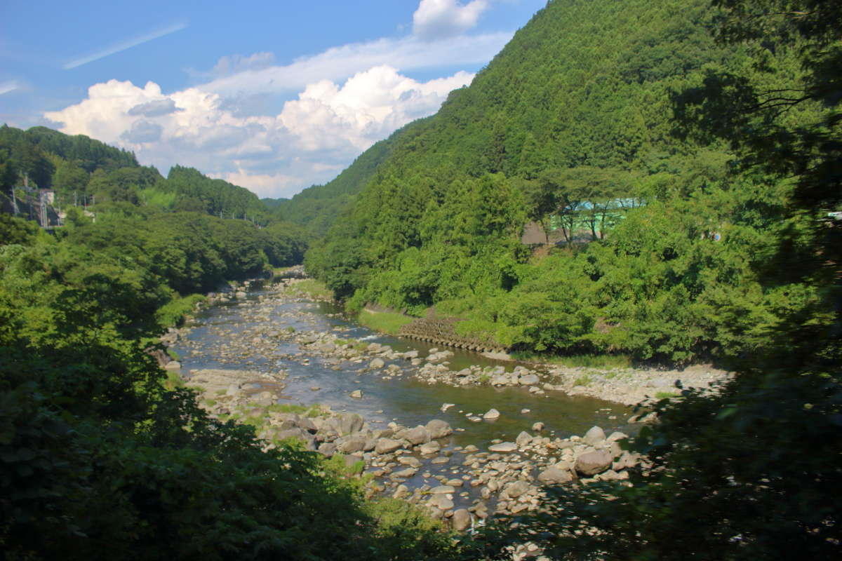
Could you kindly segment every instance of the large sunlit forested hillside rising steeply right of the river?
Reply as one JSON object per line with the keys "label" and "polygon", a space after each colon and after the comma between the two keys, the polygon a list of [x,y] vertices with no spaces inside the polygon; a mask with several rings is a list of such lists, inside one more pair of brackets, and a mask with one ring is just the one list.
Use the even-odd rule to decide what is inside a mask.
{"label": "large sunlit forested hillside rising steeply right of the river", "polygon": [[[307,266],[351,307],[435,305],[514,349],[753,352],[814,294],[761,282],[776,236],[798,228],[786,181],[732,173],[723,140],[682,138],[675,120],[678,94],[713,71],[785,80],[717,43],[716,18],[702,0],[548,3],[470,87],[392,138]],[[797,76],[796,56],[780,45],[768,64]],[[530,219],[595,242],[533,252],[519,241]]]}

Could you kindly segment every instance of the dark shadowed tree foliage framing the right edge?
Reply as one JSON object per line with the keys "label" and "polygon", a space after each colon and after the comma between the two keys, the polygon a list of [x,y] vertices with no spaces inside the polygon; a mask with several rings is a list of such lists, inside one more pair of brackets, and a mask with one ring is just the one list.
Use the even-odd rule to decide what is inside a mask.
{"label": "dark shadowed tree foliage framing the right edge", "polygon": [[[514,528],[503,521],[502,533],[478,542],[475,558],[505,558],[504,548],[525,541],[559,559],[842,553],[842,222],[828,216],[842,197],[842,10],[814,0],[716,3],[726,8],[722,39],[749,41],[761,61],[770,40],[800,42],[804,75],[781,92],[711,73],[677,103],[690,130],[723,135],[744,166],[793,180],[788,211],[810,217],[808,236],[781,236],[766,282],[798,278],[820,298],[784,315],[770,344],[719,394],[684,390],[683,400],[658,403],[660,423],[633,444],[653,469],[633,477],[632,487],[553,490],[545,514],[521,518]],[[808,101],[822,104],[820,118],[790,120],[786,109]]]}

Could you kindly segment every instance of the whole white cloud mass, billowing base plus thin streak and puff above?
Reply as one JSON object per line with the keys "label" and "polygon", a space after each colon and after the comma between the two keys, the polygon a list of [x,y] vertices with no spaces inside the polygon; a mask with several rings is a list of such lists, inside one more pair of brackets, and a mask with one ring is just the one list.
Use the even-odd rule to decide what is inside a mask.
{"label": "whole white cloud mass, billowing base plus thin streak and puff above", "polygon": [[167,94],[154,82],[110,80],[44,117],[68,134],[135,151],[163,172],[179,163],[261,196],[288,197],[332,179],[470,83],[466,71],[428,82],[401,72],[491,60],[513,33],[464,34],[486,8],[488,0],[421,0],[413,34],[401,38],[333,47],[284,65],[268,52],[223,56],[212,71],[191,71],[208,82]]}

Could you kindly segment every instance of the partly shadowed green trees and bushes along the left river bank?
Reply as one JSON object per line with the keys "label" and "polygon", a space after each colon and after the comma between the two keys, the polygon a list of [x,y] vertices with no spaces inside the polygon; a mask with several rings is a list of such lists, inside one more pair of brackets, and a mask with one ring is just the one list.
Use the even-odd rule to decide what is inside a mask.
{"label": "partly shadowed green trees and bushes along the left river bank", "polygon": [[264,450],[253,427],[210,419],[195,394],[167,389],[145,341],[181,277],[125,255],[137,238],[109,246],[96,232],[56,241],[21,220],[3,228],[24,242],[0,246],[5,558],[450,557],[424,516],[369,505],[319,454]]}

